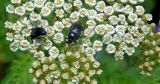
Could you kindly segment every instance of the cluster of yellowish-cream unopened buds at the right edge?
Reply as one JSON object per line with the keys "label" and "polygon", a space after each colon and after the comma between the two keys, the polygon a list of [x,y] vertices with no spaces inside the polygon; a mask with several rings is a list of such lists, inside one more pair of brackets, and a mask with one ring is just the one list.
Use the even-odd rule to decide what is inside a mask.
{"label": "cluster of yellowish-cream unopened buds at the right edge", "polygon": [[142,50],[144,50],[144,63],[139,65],[141,74],[151,76],[154,67],[160,64],[160,32],[154,33],[155,24],[150,25],[152,30],[142,42]]}

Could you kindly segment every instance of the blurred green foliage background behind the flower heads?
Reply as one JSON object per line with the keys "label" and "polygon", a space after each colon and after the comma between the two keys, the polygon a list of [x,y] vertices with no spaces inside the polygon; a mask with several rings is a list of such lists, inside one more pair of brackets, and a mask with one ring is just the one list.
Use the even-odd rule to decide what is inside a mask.
{"label": "blurred green foliage background behind the flower heads", "polygon": [[[11,52],[10,42],[5,39],[7,30],[4,28],[4,22],[12,19],[5,12],[5,6],[9,3],[10,0],[0,0],[0,84],[32,84],[32,76],[28,73],[32,55],[28,52]],[[156,3],[158,4],[156,0],[145,0],[143,6],[146,12],[154,14]],[[160,84],[160,68],[155,68],[151,77],[144,77],[139,74],[137,66],[132,66],[136,62],[133,57],[115,61],[113,56],[104,52],[98,53],[96,57],[104,70],[98,78],[99,84]]]}

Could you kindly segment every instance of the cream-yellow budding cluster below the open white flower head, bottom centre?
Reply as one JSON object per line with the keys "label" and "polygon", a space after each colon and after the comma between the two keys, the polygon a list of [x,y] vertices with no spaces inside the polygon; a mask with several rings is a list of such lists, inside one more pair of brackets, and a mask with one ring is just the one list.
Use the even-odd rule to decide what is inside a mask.
{"label": "cream-yellow budding cluster below the open white flower head, bottom centre", "polygon": [[40,51],[35,54],[35,58],[29,70],[34,75],[35,84],[97,84],[93,76],[102,73],[98,69],[100,63],[94,57],[79,52],[45,57]]}

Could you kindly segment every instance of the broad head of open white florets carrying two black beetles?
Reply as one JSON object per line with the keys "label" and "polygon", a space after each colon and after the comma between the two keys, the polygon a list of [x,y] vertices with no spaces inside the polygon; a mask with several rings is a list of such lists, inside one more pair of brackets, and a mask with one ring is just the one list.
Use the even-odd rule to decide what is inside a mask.
{"label": "broad head of open white florets carrying two black beetles", "polygon": [[[20,0],[12,0],[6,11],[18,15],[20,19],[15,23],[10,21],[5,23],[6,28],[12,30],[7,33],[7,39],[12,41],[10,48],[13,51],[18,49],[33,51],[32,46],[35,46],[35,49],[43,46],[42,50],[50,50],[54,45],[59,49],[60,46],[57,45],[64,46],[74,35],[71,32],[74,32],[80,35],[76,37],[74,35],[72,42],[83,46],[86,54],[92,52],[94,55],[105,46],[109,54],[118,55],[116,52],[123,52],[131,56],[135,52],[135,47],[139,46],[150,31],[146,22],[152,20],[152,16],[145,14],[143,6],[140,5],[142,0],[113,1],[34,0],[21,5]],[[113,2],[113,5],[106,5],[110,2]],[[132,4],[136,6],[133,7]],[[80,23],[81,31],[71,30],[76,23]],[[46,31],[44,38],[29,40],[35,28],[43,28]],[[69,34],[72,36],[69,37]],[[83,39],[79,39],[80,37]],[[26,43],[21,43],[22,40]],[[22,47],[26,45],[27,47],[23,49]]]}

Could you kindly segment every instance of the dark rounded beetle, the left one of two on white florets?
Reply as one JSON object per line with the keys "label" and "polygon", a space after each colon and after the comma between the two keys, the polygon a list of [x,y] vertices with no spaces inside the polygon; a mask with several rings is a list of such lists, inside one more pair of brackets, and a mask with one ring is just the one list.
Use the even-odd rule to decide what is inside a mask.
{"label": "dark rounded beetle, the left one of two on white florets", "polygon": [[40,38],[40,36],[47,34],[46,30],[42,27],[36,27],[31,30],[32,30],[30,35],[31,39]]}

